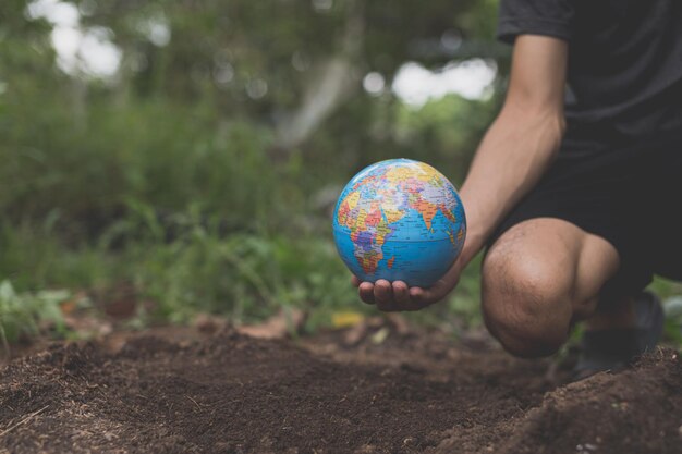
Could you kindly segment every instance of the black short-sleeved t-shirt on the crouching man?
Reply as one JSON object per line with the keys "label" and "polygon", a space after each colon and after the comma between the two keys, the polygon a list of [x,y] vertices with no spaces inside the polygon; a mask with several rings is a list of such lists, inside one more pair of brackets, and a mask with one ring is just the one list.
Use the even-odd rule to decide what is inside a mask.
{"label": "black short-sleeved t-shirt on the crouching man", "polygon": [[682,0],[501,0],[499,39],[568,41],[568,136],[682,135]]}

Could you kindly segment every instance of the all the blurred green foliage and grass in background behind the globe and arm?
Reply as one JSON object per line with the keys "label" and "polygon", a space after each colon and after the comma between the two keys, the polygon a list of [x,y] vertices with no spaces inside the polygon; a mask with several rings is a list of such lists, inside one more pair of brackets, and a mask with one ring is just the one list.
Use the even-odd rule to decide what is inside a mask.
{"label": "all the blurred green foliage and grass in background behind the globe and arm", "polygon": [[[460,183],[497,109],[495,97],[449,96],[415,110],[390,89],[362,89],[369,71],[390,86],[406,61],[496,58],[442,46],[443,34],[491,37],[494,1],[63,2],[78,7],[80,32],[118,47],[121,65],[111,77],[63,72],[49,17],[32,17],[27,0],[1,2],[0,318],[11,340],[42,318],[63,327],[58,294],[42,292],[121,282],[145,299],[143,322],[295,307],[315,327],[339,308],[370,310],[331,242],[338,189],[395,157]],[[337,97],[310,91],[329,83],[330,61],[345,62]],[[325,96],[330,108],[313,115],[324,121],[283,147],[288,121]],[[473,266],[431,320],[479,322],[477,285]]]}

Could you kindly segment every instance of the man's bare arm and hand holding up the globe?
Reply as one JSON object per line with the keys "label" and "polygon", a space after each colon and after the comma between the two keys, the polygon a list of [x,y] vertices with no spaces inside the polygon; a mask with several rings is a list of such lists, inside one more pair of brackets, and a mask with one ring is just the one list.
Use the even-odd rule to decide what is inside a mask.
{"label": "man's bare arm and hand holding up the globe", "polygon": [[568,45],[535,35],[516,38],[504,106],[488,128],[460,196],[466,210],[466,241],[448,273],[430,289],[402,281],[360,282],[361,298],[380,310],[417,310],[442,299],[462,269],[484,247],[509,210],[552,162],[564,131],[563,93]]}

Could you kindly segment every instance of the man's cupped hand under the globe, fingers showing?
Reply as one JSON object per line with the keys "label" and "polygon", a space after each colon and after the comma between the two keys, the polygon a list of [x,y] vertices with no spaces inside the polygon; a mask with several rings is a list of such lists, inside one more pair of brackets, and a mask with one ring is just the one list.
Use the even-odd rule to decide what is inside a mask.
{"label": "man's cupped hand under the globe, fingers showing", "polygon": [[419,310],[446,297],[454,289],[462,272],[461,256],[450,267],[446,275],[428,289],[407,287],[403,281],[389,282],[380,279],[374,284],[362,282],[353,277],[353,285],[357,287],[360,298],[374,304],[379,310],[386,312],[401,310]]}

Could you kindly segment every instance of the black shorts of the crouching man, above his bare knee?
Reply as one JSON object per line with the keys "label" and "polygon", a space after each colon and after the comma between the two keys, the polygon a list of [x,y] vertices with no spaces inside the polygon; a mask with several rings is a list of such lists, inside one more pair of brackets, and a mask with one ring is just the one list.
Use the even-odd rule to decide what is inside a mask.
{"label": "black shorts of the crouching man, above his bare knee", "polygon": [[611,243],[620,269],[609,297],[643,290],[653,274],[682,281],[682,131],[637,140],[567,136],[537,186],[501,222],[558,218]]}

